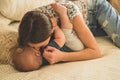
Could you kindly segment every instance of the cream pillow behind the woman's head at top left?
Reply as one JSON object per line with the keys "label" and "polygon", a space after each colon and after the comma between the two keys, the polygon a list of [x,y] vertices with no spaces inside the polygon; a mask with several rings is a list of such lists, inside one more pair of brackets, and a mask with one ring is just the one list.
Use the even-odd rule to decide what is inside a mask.
{"label": "cream pillow behind the woman's head at top left", "polygon": [[6,18],[21,20],[27,11],[52,2],[54,0],[0,0],[0,13]]}

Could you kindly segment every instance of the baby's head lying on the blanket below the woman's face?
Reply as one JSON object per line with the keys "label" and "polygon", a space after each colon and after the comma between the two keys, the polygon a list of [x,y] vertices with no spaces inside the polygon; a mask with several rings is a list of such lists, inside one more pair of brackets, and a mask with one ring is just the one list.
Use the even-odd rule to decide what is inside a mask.
{"label": "baby's head lying on the blanket below the woman's face", "polygon": [[39,51],[31,47],[19,47],[13,53],[13,64],[19,71],[33,71],[42,65],[42,57]]}

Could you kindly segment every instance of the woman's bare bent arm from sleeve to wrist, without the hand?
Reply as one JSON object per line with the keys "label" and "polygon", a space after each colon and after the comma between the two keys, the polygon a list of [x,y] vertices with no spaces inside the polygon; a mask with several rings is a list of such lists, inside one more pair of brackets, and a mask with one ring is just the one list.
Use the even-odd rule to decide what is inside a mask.
{"label": "woman's bare bent arm from sleeve to wrist, without the hand", "polygon": [[74,30],[78,34],[80,40],[85,45],[85,49],[78,52],[71,52],[63,54],[63,61],[76,61],[76,60],[88,60],[101,57],[99,46],[92,35],[91,31],[85,24],[81,15],[76,16],[73,19]]}

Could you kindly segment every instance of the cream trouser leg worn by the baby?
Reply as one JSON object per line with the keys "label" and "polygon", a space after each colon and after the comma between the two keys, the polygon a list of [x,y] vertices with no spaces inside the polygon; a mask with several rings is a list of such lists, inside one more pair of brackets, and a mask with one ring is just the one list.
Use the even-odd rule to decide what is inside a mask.
{"label": "cream trouser leg worn by the baby", "polygon": [[74,51],[79,51],[79,50],[82,50],[84,48],[83,43],[78,38],[75,31],[73,31],[73,29],[65,29],[64,28],[62,30],[63,30],[65,37],[66,37],[65,45],[67,47],[69,47],[70,49],[72,49]]}

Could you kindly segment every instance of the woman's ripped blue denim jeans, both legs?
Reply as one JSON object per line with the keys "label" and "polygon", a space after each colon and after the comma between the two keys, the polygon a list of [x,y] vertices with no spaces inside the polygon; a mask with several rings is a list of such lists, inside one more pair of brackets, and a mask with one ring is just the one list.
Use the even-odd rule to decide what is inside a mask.
{"label": "woman's ripped blue denim jeans, both legs", "polygon": [[[103,29],[120,47],[120,16],[106,0],[88,0],[89,27]],[[104,32],[103,31],[103,32]],[[103,32],[100,32],[102,34]]]}

